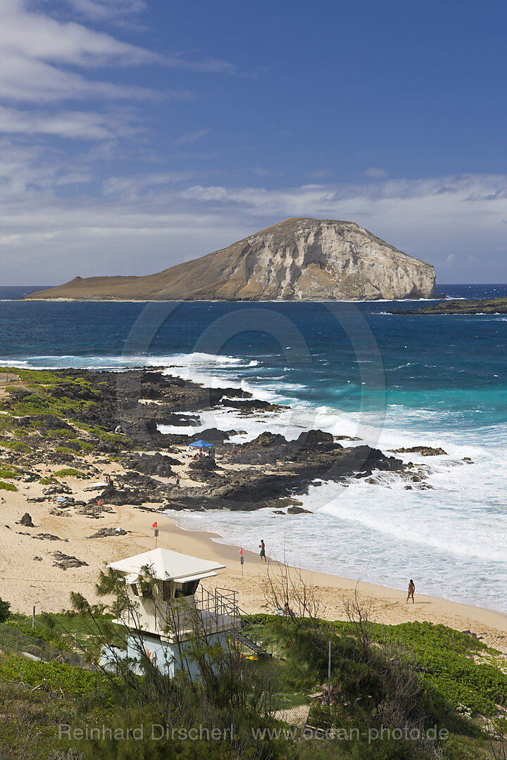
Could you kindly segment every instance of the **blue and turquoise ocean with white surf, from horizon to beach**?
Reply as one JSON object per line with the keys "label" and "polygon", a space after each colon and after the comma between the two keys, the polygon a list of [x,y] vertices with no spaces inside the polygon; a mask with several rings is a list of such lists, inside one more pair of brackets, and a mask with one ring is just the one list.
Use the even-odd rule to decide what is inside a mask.
{"label": "blue and turquoise ocean with white surf, from horizon to beach", "polygon": [[[303,567],[507,613],[507,317],[390,315],[422,302],[23,302],[35,287],[0,288],[0,363],[124,369],[166,366],[208,385],[287,404],[240,416],[201,414],[201,426],[303,429],[359,436],[392,451],[442,447],[424,464],[431,489],[395,474],[380,483],[315,482],[312,515],[175,513],[188,529]],[[448,298],[507,296],[507,285],[439,285]],[[163,432],[176,432],[162,428]],[[353,444],[352,444],[353,445]],[[467,458],[467,459],[465,459]]]}

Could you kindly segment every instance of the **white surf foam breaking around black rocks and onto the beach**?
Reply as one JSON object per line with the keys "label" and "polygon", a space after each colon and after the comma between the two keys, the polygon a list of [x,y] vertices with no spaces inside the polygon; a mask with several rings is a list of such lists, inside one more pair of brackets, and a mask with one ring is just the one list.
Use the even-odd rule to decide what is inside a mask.
{"label": "white surf foam breaking around black rocks and onto the beach", "polygon": [[[34,369],[163,366],[168,368],[167,374],[213,387],[242,388],[266,401],[287,403],[292,399],[290,409],[276,413],[243,416],[236,410],[206,410],[199,413],[201,426],[162,427],[164,432],[195,435],[216,426],[246,431],[233,439],[241,442],[265,430],[295,439],[304,429],[319,428],[338,436],[360,435],[361,442],[386,453],[414,445],[442,447],[448,452],[445,457],[397,454],[404,461],[420,462],[429,468],[426,483],[434,486],[432,490],[420,490],[415,483],[411,490],[405,490],[407,483],[382,473],[379,485],[350,480],[347,486],[311,486],[301,500],[313,515],[281,517],[265,509],[175,516],[183,527],[214,530],[227,536],[224,543],[249,549],[256,549],[264,537],[270,553],[279,558],[286,553],[287,559],[303,566],[393,587],[404,587],[407,578],[414,577],[418,591],[507,612],[506,426],[450,429],[445,422],[449,415],[445,404],[442,410],[433,411],[391,405],[385,413],[344,413],[328,405],[298,401],[291,394],[304,393],[305,387],[301,383],[291,385],[285,379],[287,373],[280,375],[280,370],[277,378],[266,381],[246,378],[255,371],[254,362],[203,353],[1,360],[8,366]],[[343,441],[344,445],[361,442]],[[465,464],[464,457],[474,464]]]}

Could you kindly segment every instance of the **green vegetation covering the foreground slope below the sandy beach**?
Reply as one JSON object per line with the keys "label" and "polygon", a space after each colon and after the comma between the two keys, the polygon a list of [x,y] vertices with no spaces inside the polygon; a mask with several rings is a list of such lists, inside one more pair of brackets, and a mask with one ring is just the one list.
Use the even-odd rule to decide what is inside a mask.
{"label": "green vegetation covering the foreground slope below the sandy beach", "polygon": [[[257,658],[232,638],[217,647],[195,625],[185,657],[200,677],[183,668],[170,679],[142,646],[134,669],[125,660],[97,668],[104,644],[125,646],[112,616],[135,614],[114,573],[102,575],[98,590],[116,591],[112,605],[73,594],[74,612],[38,619],[34,629],[53,641],[75,634],[81,666],[5,651],[2,758],[507,758],[505,659],[474,636],[426,622],[378,625],[356,598],[347,621],[328,622],[313,613],[310,591],[299,614],[244,616],[242,634],[272,657]],[[296,608],[297,597],[290,602]],[[19,616],[10,624],[30,631]],[[88,733],[59,736],[61,723]],[[142,738],[126,741],[129,728]]]}

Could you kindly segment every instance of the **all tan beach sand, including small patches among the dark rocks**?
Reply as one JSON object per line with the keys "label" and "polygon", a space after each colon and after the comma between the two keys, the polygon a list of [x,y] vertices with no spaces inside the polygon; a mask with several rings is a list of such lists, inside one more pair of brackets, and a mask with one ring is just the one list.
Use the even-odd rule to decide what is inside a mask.
{"label": "all tan beach sand, including small patches among the dark rocks", "polygon": [[[16,375],[0,378],[0,395],[5,397],[6,385],[21,385]],[[141,400],[142,401],[142,400]],[[173,467],[168,477],[157,477],[157,482],[166,487],[167,492],[177,497],[179,489],[175,476],[179,477],[182,490],[194,488],[199,483],[192,479],[192,472],[185,458],[186,447],[175,445],[172,449]],[[157,451],[151,451],[156,454]],[[2,461],[11,461],[5,454]],[[71,495],[75,502],[85,504],[95,499],[97,504],[100,488],[93,490],[93,483],[104,483],[107,476],[113,480],[125,476],[123,464],[109,456],[92,452],[80,454],[81,466],[87,470],[86,477],[58,475],[52,482],[59,486],[40,483],[43,478],[58,474],[61,465],[52,463],[41,454],[34,458],[27,474],[23,469],[14,480],[17,490],[0,491],[0,597],[11,603],[11,609],[31,613],[33,606],[37,612],[59,612],[70,607],[69,594],[80,591],[91,601],[100,568],[108,562],[132,556],[155,546],[152,523],[157,520],[160,535],[158,546],[202,559],[218,559],[226,568],[217,578],[212,578],[208,587],[225,587],[237,591],[239,607],[248,613],[272,613],[273,605],[268,603],[264,593],[268,572],[277,575],[280,557],[270,555],[267,546],[268,563],[261,562],[258,554],[244,552],[245,564],[239,562],[239,547],[217,543],[216,534],[182,530],[173,519],[158,511],[161,503],[151,502],[141,506],[122,504],[105,505],[105,508],[82,510],[73,502],[65,504],[63,493]],[[227,471],[241,470],[244,465],[231,464],[227,457],[219,458],[220,468]],[[179,464],[178,464],[179,462]],[[0,462],[0,464],[2,464]],[[26,471],[26,470],[25,470]],[[232,474],[232,472],[231,472]],[[152,481],[155,483],[155,481]],[[102,489],[103,490],[103,489]],[[33,526],[19,524],[28,512]],[[284,520],[306,520],[306,515],[286,516]],[[100,528],[112,531],[107,537],[92,537]],[[116,529],[126,531],[115,534]],[[226,537],[227,538],[227,537]],[[60,554],[59,554],[60,553]],[[65,558],[77,559],[78,567],[64,569],[58,562]],[[339,568],[337,568],[339,570]],[[467,606],[453,601],[426,596],[419,593],[424,579],[415,578],[415,603],[407,603],[406,591],[366,583],[361,579],[343,578],[311,570],[301,572],[302,578],[312,584],[321,603],[319,614],[327,619],[344,619],[344,598],[350,597],[357,588],[360,600],[369,606],[371,618],[384,624],[407,621],[429,621],[442,623],[460,631],[470,630],[487,644],[507,652],[507,616],[476,606]],[[405,579],[401,579],[401,584]],[[450,590],[452,591],[452,590]]]}

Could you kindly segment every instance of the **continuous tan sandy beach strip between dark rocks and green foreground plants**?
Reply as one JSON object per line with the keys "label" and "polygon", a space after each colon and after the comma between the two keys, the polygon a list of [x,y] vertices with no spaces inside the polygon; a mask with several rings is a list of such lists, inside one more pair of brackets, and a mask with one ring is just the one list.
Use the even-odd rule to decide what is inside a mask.
{"label": "continuous tan sandy beach strip between dark rocks and green foreground plants", "polygon": [[[95,462],[96,466],[100,464]],[[102,465],[104,474],[115,475],[122,471],[119,465]],[[183,467],[182,476],[183,476]],[[89,498],[84,489],[87,480],[65,478],[76,498]],[[33,605],[38,612],[58,612],[68,609],[69,593],[81,591],[95,600],[94,584],[97,573],[107,562],[141,553],[154,548],[154,520],[159,527],[158,546],[191,554],[202,559],[218,559],[226,569],[217,578],[208,581],[210,587],[226,587],[238,593],[239,606],[246,612],[273,612],[266,602],[263,585],[268,573],[277,573],[277,559],[269,557],[263,563],[257,554],[245,551],[243,568],[239,563],[239,548],[217,543],[216,534],[180,529],[173,519],[160,512],[132,506],[114,507],[98,518],[68,510],[69,515],[51,514],[55,506],[48,502],[27,502],[31,496],[40,496],[40,483],[19,483],[18,492],[3,491],[0,496],[0,597],[11,603],[13,610],[31,613]],[[17,524],[28,511],[35,527]],[[299,518],[305,519],[305,517]],[[126,535],[90,538],[98,528],[121,527]],[[51,534],[59,540],[36,538],[37,534]],[[87,565],[63,570],[55,566],[56,552],[75,556]],[[38,559],[37,559],[38,558]],[[297,572],[297,571],[295,571]],[[344,619],[344,597],[358,588],[361,600],[369,603],[372,619],[385,624],[407,621],[443,623],[458,630],[469,629],[487,644],[507,652],[507,616],[479,607],[467,606],[449,600],[416,593],[414,604],[406,603],[406,593],[384,586],[366,583],[338,575],[309,570],[301,571],[303,578],[315,587],[322,603],[322,616],[327,619]],[[416,579],[417,584],[417,579]]]}

